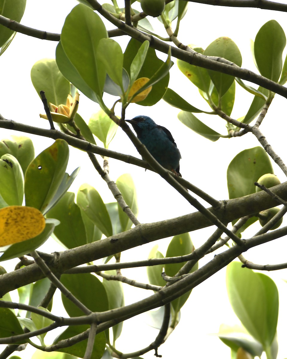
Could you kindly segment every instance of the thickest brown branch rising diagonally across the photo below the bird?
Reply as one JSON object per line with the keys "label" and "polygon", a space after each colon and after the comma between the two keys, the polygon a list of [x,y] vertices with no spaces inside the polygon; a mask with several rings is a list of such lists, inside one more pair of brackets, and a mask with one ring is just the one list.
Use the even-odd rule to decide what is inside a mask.
{"label": "thickest brown branch rising diagonally across the photo below the bird", "polygon": [[[287,200],[287,182],[272,187],[272,191],[282,199]],[[215,210],[210,208],[209,210],[222,222],[228,223],[234,219],[249,214],[256,214],[261,210],[274,207],[276,204],[277,201],[261,191],[252,195],[222,201],[220,209]],[[101,241],[63,251],[55,263],[51,261],[48,265],[54,273],[61,274],[78,265],[107,257],[144,243],[150,243],[157,239],[175,236],[180,233],[191,232],[211,225],[211,222],[200,212],[156,223],[140,224],[126,232],[102,239]],[[266,235],[268,236],[270,233]],[[36,264],[2,274],[0,278],[0,296],[43,277],[44,275],[39,271]]]}

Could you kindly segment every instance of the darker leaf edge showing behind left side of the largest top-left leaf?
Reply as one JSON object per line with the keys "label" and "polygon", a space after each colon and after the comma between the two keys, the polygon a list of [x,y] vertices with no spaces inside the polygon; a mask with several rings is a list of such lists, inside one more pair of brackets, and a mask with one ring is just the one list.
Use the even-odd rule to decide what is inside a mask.
{"label": "darker leaf edge showing behind left side of the largest top-left leaf", "polygon": [[63,50],[61,41],[59,41],[56,47],[56,62],[59,70],[66,79],[69,79],[69,81],[90,100],[97,103],[100,102],[98,95],[84,81],[75,66],[67,57],[65,51]]}

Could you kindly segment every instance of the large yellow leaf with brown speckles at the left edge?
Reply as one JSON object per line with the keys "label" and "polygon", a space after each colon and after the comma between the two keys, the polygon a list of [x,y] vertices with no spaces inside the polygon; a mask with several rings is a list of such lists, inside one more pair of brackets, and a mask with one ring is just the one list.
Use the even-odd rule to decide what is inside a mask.
{"label": "large yellow leaf with brown speckles at the left edge", "polygon": [[0,247],[34,238],[44,228],[44,216],[37,208],[8,206],[0,209]]}

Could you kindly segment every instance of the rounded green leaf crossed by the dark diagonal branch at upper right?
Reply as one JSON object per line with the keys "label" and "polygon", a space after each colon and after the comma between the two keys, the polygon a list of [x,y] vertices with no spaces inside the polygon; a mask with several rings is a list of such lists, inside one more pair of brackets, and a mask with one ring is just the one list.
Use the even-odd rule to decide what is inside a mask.
{"label": "rounded green leaf crossed by the dark diagonal branch at upper right", "polygon": [[[226,60],[234,62],[241,66],[242,58],[239,48],[229,37],[219,37],[207,46],[204,51],[206,56],[223,57]],[[213,84],[215,85],[218,96],[222,97],[230,88],[234,81],[234,76],[226,75],[217,71],[207,70]]]}

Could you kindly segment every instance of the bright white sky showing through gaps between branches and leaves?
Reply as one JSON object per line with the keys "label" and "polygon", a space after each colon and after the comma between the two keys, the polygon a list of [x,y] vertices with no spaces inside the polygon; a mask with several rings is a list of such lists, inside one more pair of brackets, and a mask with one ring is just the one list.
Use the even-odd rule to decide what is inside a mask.
{"label": "bright white sky showing through gaps between branches and leaves", "polygon": [[[286,3],[286,1],[284,1],[284,3]],[[75,0],[27,0],[22,24],[49,32],[60,33],[66,15],[76,4],[77,1]],[[118,4],[121,6],[123,1],[119,1]],[[137,6],[140,10],[138,4]],[[276,11],[223,8],[190,3],[187,15],[181,23],[178,38],[184,44],[193,43],[206,48],[217,37],[230,37],[241,51],[241,55],[243,56],[242,67],[257,72],[250,51],[250,39],[254,40],[259,28],[270,19],[276,19],[283,27],[285,33],[287,33],[286,17],[286,13]],[[152,23],[158,23],[157,25],[159,25],[156,19],[154,19]],[[107,25],[107,28],[110,29],[114,27],[108,27]],[[166,36],[163,26],[161,28],[161,35]],[[128,37],[117,37],[116,40],[120,41],[124,50]],[[71,41],[73,41],[72,38]],[[45,57],[55,58],[56,45],[56,42],[43,41],[17,34],[8,50],[0,57],[0,113],[4,117],[29,125],[49,128],[48,122],[39,118],[39,113],[43,113],[44,110],[42,102],[30,80],[30,69],[33,64],[40,59]],[[286,51],[284,51],[283,56],[286,56]],[[161,56],[161,58],[165,59],[166,55]],[[171,89],[178,92],[194,106],[208,110],[207,104],[199,95],[197,88],[180,73],[176,63],[171,69],[170,75],[169,87]],[[254,87],[256,87],[256,85],[254,85]],[[242,95],[240,99],[237,98],[232,117],[239,118],[248,110],[253,95],[245,94],[245,91],[241,90],[237,85],[236,91],[237,94],[240,92]],[[107,100],[107,105],[112,106],[113,102],[114,97]],[[261,129],[274,150],[286,163],[285,104],[286,99],[276,95]],[[91,114],[98,110],[98,104],[91,102],[89,99],[86,99],[84,95],[81,95],[79,113],[86,122],[89,121]],[[116,107],[116,110],[119,110],[119,107]],[[239,151],[258,146],[258,141],[253,135],[247,134],[235,139],[219,139],[213,143],[185,127],[177,119],[178,112],[178,109],[168,106],[161,100],[153,107],[131,104],[127,108],[126,118],[132,118],[136,115],[148,115],[152,117],[156,123],[167,127],[173,134],[182,155],[180,162],[180,172],[182,176],[216,199],[227,199],[226,170],[228,164]],[[208,121],[207,124],[213,129],[222,134],[226,133],[224,120],[215,118],[215,116],[198,117],[200,119],[206,118],[206,121]],[[4,139],[11,134],[21,135],[20,133],[12,133],[4,129],[1,129],[0,133],[0,139]],[[36,154],[53,143],[52,139],[39,136],[30,137],[34,141]],[[135,148],[133,148],[126,135],[122,133],[120,129],[110,144],[109,149],[139,157]],[[113,196],[107,190],[106,183],[98,176],[90,164],[88,156],[82,151],[70,148],[70,160],[67,172],[71,173],[78,166],[81,166],[81,171],[70,188],[71,191],[76,192],[82,183],[88,182],[99,191],[105,202],[114,201]],[[276,164],[273,164],[273,168],[274,173],[279,177],[281,182],[284,182],[285,178],[282,171]],[[121,174],[127,172],[131,173],[137,188],[140,209],[138,219],[140,222],[156,222],[195,211],[178,192],[166,184],[157,174],[150,171],[145,172],[142,168],[110,159],[110,177],[114,181],[116,181]],[[284,222],[286,222],[286,220]],[[200,246],[203,241],[210,236],[213,230],[214,228],[210,227],[190,233],[195,247]],[[253,228],[249,234],[246,233],[246,237],[254,234],[255,230],[256,228]],[[245,257],[259,264],[285,262],[285,241],[286,239],[282,238],[276,242],[256,247],[254,250],[245,253]],[[161,241],[147,244],[141,248],[123,252],[122,261],[147,258],[151,248],[155,244],[159,244],[159,250],[165,254],[168,243],[169,239],[162,239]],[[49,240],[43,250],[52,252],[61,250],[61,247],[52,240]],[[199,262],[200,265],[202,266],[206,260],[212,257],[213,255],[201,260]],[[14,265],[15,263],[13,262],[13,266]],[[9,269],[5,264],[4,267]],[[11,267],[11,269],[12,268],[13,267]],[[144,282],[147,281],[145,269],[123,270],[122,273],[128,278]],[[286,321],[284,320],[287,314],[287,285],[282,279],[287,279],[287,272],[286,270],[282,270],[274,273],[271,272],[269,275],[276,281],[279,289],[281,306],[278,323],[278,358],[284,358],[287,356],[287,328]],[[124,288],[127,291],[125,298],[126,304],[152,294],[141,289],[129,288],[125,284]],[[54,309],[55,302],[53,310]],[[195,288],[188,302],[182,308],[181,313],[182,316],[178,327],[169,337],[168,341],[159,348],[159,354],[163,355],[164,359],[177,358],[178,356],[190,358],[230,358],[229,348],[222,344],[217,337],[209,335],[216,333],[221,323],[229,325],[238,323],[227,298],[225,269]],[[124,324],[122,336],[117,341],[118,350],[123,352],[135,351],[144,348],[155,339],[157,331],[146,326],[144,321],[145,316],[142,315]],[[19,355],[22,358],[30,358],[30,353],[31,352],[25,350],[19,353]],[[18,355],[18,353],[15,354]],[[143,357],[145,359],[154,358],[154,351],[143,355]]]}

